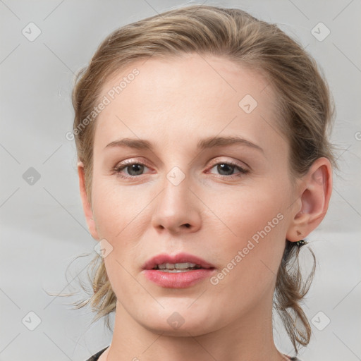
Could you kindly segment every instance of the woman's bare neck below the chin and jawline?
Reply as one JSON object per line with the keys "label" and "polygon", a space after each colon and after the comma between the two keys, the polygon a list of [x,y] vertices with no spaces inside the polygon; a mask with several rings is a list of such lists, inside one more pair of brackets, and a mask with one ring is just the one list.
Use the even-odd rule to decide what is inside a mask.
{"label": "woman's bare neck below the chin and jawline", "polygon": [[104,356],[106,361],[288,360],[274,345],[272,310],[262,305],[223,329],[200,336],[188,334],[166,336],[145,329],[117,301],[113,339]]}

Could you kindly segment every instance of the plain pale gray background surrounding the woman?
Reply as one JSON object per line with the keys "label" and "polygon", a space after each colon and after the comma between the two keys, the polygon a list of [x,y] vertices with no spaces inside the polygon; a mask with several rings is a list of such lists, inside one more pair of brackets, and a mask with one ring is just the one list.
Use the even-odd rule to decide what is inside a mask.
{"label": "plain pale gray background surrounding the woman", "polygon": [[[82,361],[109,345],[111,333],[102,321],[90,326],[89,309],[66,305],[78,298],[45,293],[78,289],[95,255],[80,203],[75,143],[65,136],[73,123],[73,76],[116,27],[185,4],[200,2],[0,0],[1,361]],[[305,305],[313,337],[300,356],[361,360],[360,0],[205,4],[243,8],[279,24],[307,47],[329,81],[341,173],[334,174],[329,213],[309,238],[318,260]],[[41,30],[33,41],[31,22]],[[314,37],[326,35],[325,27],[315,27],[319,22],[330,30],[322,41]],[[40,176],[32,184],[30,167]],[[86,253],[90,256],[73,262],[66,279],[72,259]],[[41,319],[33,331],[28,327],[36,326],[37,317],[28,312]],[[283,352],[292,350],[281,327],[275,337]]]}

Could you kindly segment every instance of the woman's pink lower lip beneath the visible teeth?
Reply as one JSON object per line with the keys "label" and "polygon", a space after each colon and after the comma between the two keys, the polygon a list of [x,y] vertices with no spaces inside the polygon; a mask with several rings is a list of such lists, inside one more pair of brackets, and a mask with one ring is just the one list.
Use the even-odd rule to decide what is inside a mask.
{"label": "woman's pink lower lip beneath the visible teeth", "polygon": [[187,288],[207,279],[214,273],[214,269],[193,269],[185,272],[164,272],[157,269],[146,269],[145,277],[166,288]]}

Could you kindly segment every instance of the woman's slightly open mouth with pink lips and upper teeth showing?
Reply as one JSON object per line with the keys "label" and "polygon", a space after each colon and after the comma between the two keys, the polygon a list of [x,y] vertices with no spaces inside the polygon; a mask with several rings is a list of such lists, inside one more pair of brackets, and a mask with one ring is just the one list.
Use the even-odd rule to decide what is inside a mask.
{"label": "woman's slightly open mouth with pink lips and upper teeth showing", "polygon": [[207,279],[215,272],[213,264],[200,257],[179,253],[157,255],[145,262],[145,277],[163,288],[187,288]]}

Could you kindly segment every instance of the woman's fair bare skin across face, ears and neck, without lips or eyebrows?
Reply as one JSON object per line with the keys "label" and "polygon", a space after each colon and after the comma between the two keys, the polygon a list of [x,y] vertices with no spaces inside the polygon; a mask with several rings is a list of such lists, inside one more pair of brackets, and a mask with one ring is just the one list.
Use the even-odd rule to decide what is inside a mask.
{"label": "woman's fair bare skin across face, ears and neck, without lips or eyebrows", "polygon": [[[276,95],[259,73],[210,55],[153,57],[119,71],[101,97],[133,68],[140,74],[97,118],[91,203],[78,164],[92,237],[113,247],[104,262],[118,299],[116,319],[100,360],[285,360],[272,334],[276,273],[286,238],[305,238],[326,214],[329,160],[319,158],[305,176],[290,178]],[[258,103],[250,114],[238,106],[245,94]],[[246,145],[197,150],[199,140],[227,135],[262,151]],[[154,149],[104,149],[123,137],[149,140]],[[112,171],[126,159],[145,164],[138,173],[123,169],[132,179]],[[248,173],[232,166],[222,172],[217,164],[229,161]],[[178,185],[166,177],[175,166],[185,176]],[[142,274],[145,261],[163,252],[197,255],[218,274],[277,214],[283,219],[216,285],[205,279],[162,288]],[[173,312],[184,320],[178,329],[167,322]]]}

